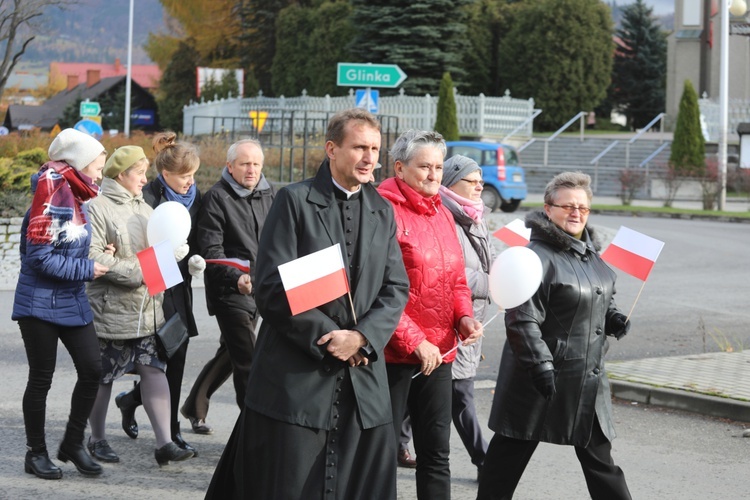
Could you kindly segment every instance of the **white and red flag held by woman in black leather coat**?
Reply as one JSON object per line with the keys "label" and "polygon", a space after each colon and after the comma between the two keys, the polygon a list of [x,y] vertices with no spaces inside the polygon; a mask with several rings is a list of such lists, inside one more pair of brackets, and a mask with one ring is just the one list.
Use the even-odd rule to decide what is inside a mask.
{"label": "white and red flag held by woman in black leather coat", "polygon": [[663,241],[620,226],[612,243],[602,253],[602,260],[646,281],[662,248]]}

